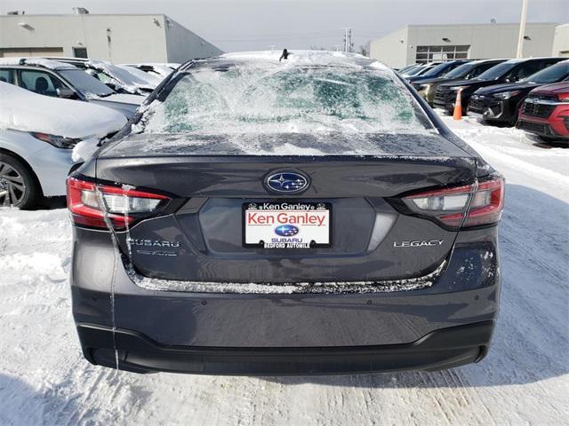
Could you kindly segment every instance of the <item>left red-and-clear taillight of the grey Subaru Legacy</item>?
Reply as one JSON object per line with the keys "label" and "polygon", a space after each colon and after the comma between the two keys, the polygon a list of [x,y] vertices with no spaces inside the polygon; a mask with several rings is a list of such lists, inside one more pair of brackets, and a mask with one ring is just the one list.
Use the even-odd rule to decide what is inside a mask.
{"label": "left red-and-clear taillight of the grey Subaru Legacy", "polygon": [[78,225],[107,228],[107,216],[115,229],[123,229],[134,220],[156,212],[167,200],[170,199],[158,193],[68,177],[68,209]]}

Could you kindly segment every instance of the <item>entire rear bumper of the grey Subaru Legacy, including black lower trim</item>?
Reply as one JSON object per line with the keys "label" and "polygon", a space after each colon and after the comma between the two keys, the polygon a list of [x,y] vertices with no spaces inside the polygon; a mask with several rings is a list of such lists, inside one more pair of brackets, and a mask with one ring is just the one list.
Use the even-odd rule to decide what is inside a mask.
{"label": "entire rear bumper of the grey Subaru Legacy, including black lower trim", "polygon": [[[125,271],[108,233],[78,228],[76,232],[92,233],[92,238],[76,239],[74,244],[73,315],[85,357],[104,366],[109,365],[109,357],[114,362],[116,348],[119,360],[128,363],[125,367],[144,371],[260,375],[453,367],[457,362],[479,359],[481,346],[487,344],[457,349],[445,343],[435,354],[430,353],[431,346],[422,345],[425,336],[441,329],[493,322],[498,314],[500,268],[495,227],[460,233],[444,272],[427,287],[382,291],[380,285],[377,291],[361,293],[250,294],[143,288]],[[118,334],[126,335],[117,334],[115,346],[112,339],[108,343],[108,330],[113,326]],[[486,343],[490,333],[487,335]],[[429,342],[435,341],[429,337]],[[252,358],[233,366],[226,350]],[[202,351],[214,360],[218,355],[226,358],[202,361]],[[279,372],[276,364],[281,360],[266,364],[260,357],[264,351],[298,356],[283,367],[290,369],[288,373],[286,369]],[[329,365],[321,360],[303,363],[307,351],[322,355]],[[355,351],[355,360],[342,363],[341,358],[350,351]],[[336,352],[335,358],[330,355]],[[184,360],[184,354],[199,365],[185,367],[189,361]],[[169,367],[171,356],[181,367]],[[252,365],[256,361],[259,367]],[[318,367],[320,364],[323,367]]]}

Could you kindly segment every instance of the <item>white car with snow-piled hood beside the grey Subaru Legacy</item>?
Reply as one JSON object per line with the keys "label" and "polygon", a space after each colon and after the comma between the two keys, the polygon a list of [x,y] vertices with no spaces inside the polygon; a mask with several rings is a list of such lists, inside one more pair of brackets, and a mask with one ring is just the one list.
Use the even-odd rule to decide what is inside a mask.
{"label": "white car with snow-piled hood beside the grey Subaru Legacy", "polygon": [[126,123],[113,109],[9,83],[0,83],[0,99],[0,206],[27,209],[44,197],[65,195],[65,179],[84,160],[81,154]]}

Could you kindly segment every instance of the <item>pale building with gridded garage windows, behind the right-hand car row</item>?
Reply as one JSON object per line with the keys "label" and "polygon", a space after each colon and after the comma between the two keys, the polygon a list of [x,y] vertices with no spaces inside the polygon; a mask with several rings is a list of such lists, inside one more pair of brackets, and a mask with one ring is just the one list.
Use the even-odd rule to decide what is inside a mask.
{"label": "pale building with gridded garage windows, behind the right-hand car row", "polygon": [[[524,57],[569,56],[567,29],[525,26]],[[408,25],[370,43],[370,56],[390,67],[434,60],[515,58],[519,24]],[[557,47],[556,47],[557,46]]]}

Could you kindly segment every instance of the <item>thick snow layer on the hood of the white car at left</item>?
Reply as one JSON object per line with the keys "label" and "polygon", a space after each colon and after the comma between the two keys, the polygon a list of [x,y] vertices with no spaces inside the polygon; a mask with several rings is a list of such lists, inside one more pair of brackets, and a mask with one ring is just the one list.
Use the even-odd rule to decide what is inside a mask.
{"label": "thick snow layer on the hood of the white car at left", "polygon": [[37,131],[66,138],[103,137],[120,130],[123,114],[105,106],[38,95],[0,82],[0,129]]}

